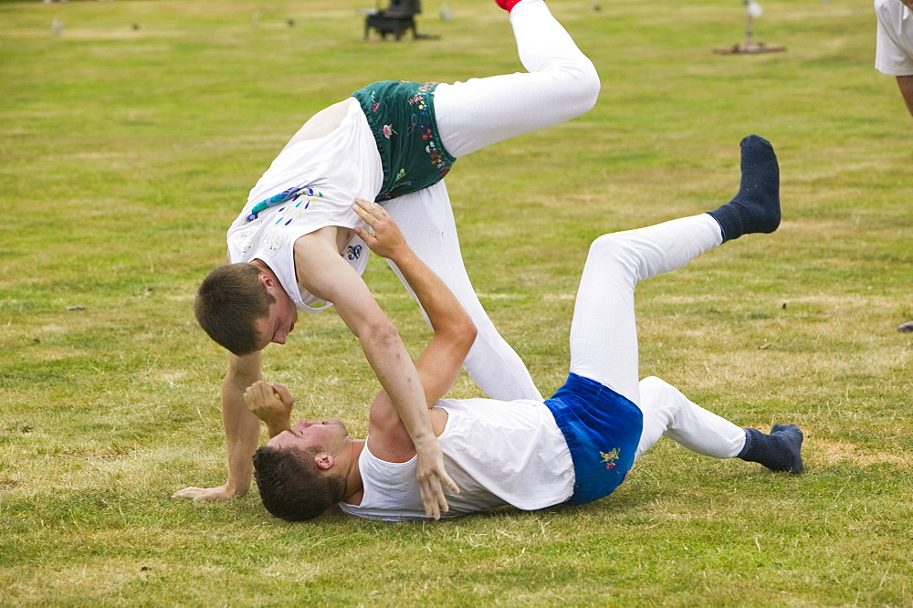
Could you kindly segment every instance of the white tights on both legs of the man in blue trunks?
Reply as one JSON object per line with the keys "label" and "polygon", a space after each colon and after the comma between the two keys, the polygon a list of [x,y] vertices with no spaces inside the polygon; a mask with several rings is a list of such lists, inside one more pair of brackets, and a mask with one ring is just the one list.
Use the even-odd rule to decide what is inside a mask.
{"label": "white tights on both legs of the man in blue trunks", "polygon": [[692,403],[675,387],[656,377],[637,380],[637,282],[682,267],[721,243],[719,224],[702,214],[603,235],[590,246],[574,305],[571,371],[640,407],[644,433],[635,458],[664,435],[718,458],[738,456],[745,445],[739,426]]}

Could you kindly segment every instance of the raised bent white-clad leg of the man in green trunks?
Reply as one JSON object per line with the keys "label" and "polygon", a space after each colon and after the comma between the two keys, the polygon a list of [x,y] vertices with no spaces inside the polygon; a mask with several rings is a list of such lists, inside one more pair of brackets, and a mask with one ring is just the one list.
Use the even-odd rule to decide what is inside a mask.
{"label": "raised bent white-clad leg of the man in green trunks", "polygon": [[460,157],[593,108],[599,76],[541,0],[510,11],[519,59],[528,73],[440,84],[435,114],[441,142]]}

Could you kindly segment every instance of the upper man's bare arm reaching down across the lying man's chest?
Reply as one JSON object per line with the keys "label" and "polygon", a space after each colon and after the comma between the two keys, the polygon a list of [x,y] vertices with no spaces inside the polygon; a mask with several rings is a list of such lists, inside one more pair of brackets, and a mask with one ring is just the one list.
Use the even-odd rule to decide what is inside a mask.
{"label": "upper man's bare arm reaching down across the lying man's chest", "polygon": [[314,296],[332,302],[341,320],[362,342],[365,358],[403,420],[418,454],[418,479],[428,517],[447,510],[441,484],[458,491],[444,469],[444,454],[425,407],[425,393],[415,364],[399,332],[358,273],[335,250],[331,239],[299,238],[295,264],[299,282]]}

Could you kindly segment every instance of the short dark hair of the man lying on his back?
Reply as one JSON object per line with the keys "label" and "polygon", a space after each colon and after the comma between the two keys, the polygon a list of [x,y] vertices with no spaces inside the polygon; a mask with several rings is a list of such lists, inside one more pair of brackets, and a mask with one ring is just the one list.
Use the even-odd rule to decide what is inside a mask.
{"label": "short dark hair of the man lying on his back", "polygon": [[254,478],[263,506],[279,519],[314,519],[338,503],[345,492],[341,475],[327,475],[314,462],[323,448],[262,446],[254,454]]}

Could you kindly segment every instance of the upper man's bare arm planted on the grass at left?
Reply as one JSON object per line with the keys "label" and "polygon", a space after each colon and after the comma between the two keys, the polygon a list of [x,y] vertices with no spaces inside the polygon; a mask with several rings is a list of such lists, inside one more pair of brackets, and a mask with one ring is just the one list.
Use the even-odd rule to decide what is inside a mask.
{"label": "upper man's bare arm planted on the grass at left", "polygon": [[224,500],[247,494],[254,466],[251,456],[257,451],[260,423],[244,401],[247,387],[261,380],[260,352],[245,357],[230,355],[228,372],[222,382],[222,421],[226,429],[228,480],[219,487],[185,487],[177,498]]}

